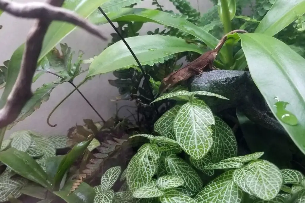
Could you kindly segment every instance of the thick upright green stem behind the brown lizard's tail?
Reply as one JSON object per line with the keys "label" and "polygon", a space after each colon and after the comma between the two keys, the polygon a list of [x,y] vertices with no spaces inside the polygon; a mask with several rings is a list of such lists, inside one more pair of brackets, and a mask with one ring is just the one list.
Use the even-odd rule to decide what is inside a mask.
{"label": "thick upright green stem behind the brown lizard's tail", "polygon": [[[224,33],[229,33],[232,30],[231,20],[230,20],[230,10],[228,6],[228,0],[220,0],[221,2],[221,10],[222,10],[222,20],[224,25]],[[233,64],[233,48],[231,45],[226,45],[227,48],[227,59],[228,64],[231,66]]]}

